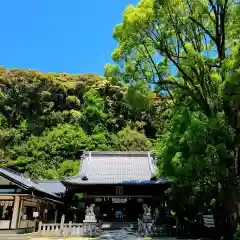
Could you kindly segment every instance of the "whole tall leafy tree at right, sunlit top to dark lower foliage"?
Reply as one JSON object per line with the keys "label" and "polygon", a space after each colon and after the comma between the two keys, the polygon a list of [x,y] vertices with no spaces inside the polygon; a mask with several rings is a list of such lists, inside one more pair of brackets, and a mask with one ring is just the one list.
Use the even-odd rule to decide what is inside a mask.
{"label": "whole tall leafy tree at right, sunlit top to dark lower foliage", "polygon": [[144,82],[165,95],[156,152],[159,175],[174,179],[171,194],[179,205],[198,201],[200,207],[216,198],[230,215],[239,196],[239,3],[130,5],[114,30],[115,65],[105,66],[112,79]]}

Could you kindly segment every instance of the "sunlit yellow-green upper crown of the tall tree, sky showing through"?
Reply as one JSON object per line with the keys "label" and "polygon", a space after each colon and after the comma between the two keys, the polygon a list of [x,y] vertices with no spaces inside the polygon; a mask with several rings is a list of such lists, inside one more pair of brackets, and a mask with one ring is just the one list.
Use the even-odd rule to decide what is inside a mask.
{"label": "sunlit yellow-green upper crown of the tall tree, sky showing through", "polygon": [[210,116],[227,76],[227,46],[232,35],[238,37],[229,27],[237,7],[232,1],[142,0],[125,10],[116,26],[112,58],[128,82],[145,80],[170,96],[181,89]]}

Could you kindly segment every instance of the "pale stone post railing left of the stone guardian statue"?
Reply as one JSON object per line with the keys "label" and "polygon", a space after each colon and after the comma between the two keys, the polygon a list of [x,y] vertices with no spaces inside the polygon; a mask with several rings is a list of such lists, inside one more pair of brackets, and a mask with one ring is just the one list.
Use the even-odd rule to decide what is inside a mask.
{"label": "pale stone post railing left of the stone guardian statue", "polygon": [[96,236],[97,223],[42,223],[39,222],[38,234],[44,236]]}

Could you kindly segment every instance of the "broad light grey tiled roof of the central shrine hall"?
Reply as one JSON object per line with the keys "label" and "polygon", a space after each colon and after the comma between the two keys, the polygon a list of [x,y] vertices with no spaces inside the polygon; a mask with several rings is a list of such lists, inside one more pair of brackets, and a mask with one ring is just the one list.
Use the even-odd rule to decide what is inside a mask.
{"label": "broad light grey tiled roof of the central shrine hall", "polygon": [[153,183],[155,170],[156,161],[149,152],[85,152],[78,176],[66,177],[63,182],[81,185]]}

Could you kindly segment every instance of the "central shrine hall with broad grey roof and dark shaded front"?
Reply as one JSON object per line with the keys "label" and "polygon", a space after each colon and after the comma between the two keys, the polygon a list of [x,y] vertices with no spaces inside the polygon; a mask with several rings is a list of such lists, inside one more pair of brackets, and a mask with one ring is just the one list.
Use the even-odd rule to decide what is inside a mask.
{"label": "central shrine hall with broad grey roof and dark shaded front", "polygon": [[[167,179],[158,179],[156,159],[149,152],[85,152],[78,176],[65,177],[66,199],[83,193],[84,200],[75,204],[77,219],[84,218],[86,206],[95,204],[95,214],[103,221],[136,221],[143,204],[165,205]],[[71,203],[73,204],[73,202]]]}

